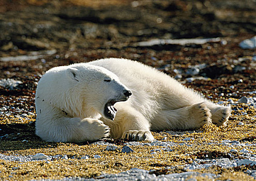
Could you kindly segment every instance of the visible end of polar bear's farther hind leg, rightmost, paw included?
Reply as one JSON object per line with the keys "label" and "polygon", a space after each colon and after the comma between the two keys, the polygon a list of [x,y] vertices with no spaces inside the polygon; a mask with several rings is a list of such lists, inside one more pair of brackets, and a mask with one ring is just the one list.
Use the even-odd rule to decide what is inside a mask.
{"label": "visible end of polar bear's farther hind leg, rightmost, paw included", "polygon": [[231,115],[231,108],[217,105],[213,102],[207,102],[206,105],[212,113],[212,122],[218,126],[225,125],[225,122],[227,122]]}

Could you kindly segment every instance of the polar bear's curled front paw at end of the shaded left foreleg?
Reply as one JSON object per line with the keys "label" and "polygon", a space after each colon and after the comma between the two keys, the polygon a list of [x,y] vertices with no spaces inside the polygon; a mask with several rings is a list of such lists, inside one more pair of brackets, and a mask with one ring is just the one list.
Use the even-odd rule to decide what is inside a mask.
{"label": "polar bear's curled front paw at end of the shaded left foreleg", "polygon": [[100,120],[94,122],[92,127],[94,130],[91,131],[91,136],[95,139],[103,139],[110,135],[110,128],[104,125]]}

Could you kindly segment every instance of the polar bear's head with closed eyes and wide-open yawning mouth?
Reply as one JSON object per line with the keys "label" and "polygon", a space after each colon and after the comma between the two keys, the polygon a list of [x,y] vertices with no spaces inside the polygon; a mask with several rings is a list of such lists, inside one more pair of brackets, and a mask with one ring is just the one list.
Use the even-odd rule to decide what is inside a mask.
{"label": "polar bear's head with closed eyes and wide-open yawning mouth", "polygon": [[114,104],[126,101],[132,94],[113,72],[103,67],[74,64],[66,69],[66,76],[73,94],[83,101],[83,109],[96,111],[107,119],[114,120]]}

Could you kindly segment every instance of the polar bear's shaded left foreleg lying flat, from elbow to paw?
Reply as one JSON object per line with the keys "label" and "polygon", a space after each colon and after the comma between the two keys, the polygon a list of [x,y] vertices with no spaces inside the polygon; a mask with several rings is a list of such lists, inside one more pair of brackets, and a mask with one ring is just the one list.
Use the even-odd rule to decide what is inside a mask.
{"label": "polar bear's shaded left foreleg lying flat, from elbow to paw", "polygon": [[110,129],[101,120],[91,118],[58,117],[51,120],[39,119],[36,134],[49,142],[95,141],[109,135]]}

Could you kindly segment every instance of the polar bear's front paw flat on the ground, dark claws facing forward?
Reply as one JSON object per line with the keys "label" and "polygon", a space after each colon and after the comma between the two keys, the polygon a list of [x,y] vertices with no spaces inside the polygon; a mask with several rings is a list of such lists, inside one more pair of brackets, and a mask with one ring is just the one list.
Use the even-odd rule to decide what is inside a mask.
{"label": "polar bear's front paw flat on the ground, dark claws facing forward", "polygon": [[154,141],[154,137],[150,131],[138,131],[130,130],[124,132],[122,139],[131,140],[131,141]]}

